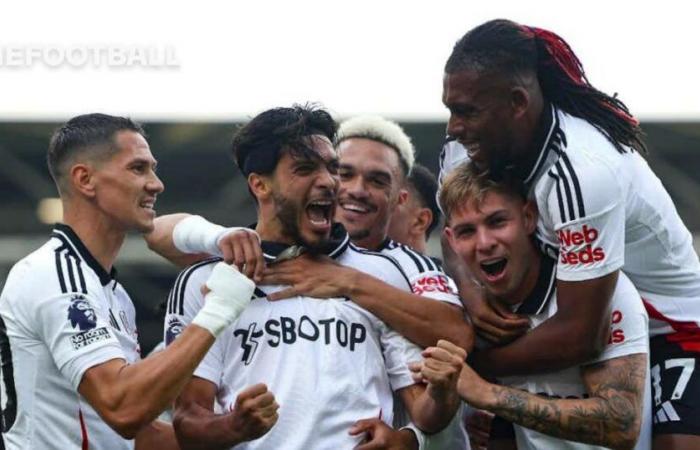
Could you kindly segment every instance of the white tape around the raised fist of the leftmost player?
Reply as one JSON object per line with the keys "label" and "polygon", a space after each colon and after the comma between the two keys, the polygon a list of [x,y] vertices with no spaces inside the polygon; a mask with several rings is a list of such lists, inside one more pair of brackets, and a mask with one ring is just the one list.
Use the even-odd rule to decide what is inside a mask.
{"label": "white tape around the raised fist of the leftmost player", "polygon": [[226,263],[217,263],[206,282],[210,289],[192,323],[217,337],[250,303],[255,283]]}

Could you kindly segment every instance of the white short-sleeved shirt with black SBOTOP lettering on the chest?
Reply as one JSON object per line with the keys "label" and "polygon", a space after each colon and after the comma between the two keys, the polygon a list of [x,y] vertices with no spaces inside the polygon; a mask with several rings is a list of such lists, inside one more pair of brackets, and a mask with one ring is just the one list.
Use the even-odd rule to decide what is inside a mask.
{"label": "white short-sleeved shirt with black SBOTOP lettering on the chest", "polygon": [[[265,259],[288,246],[262,243]],[[324,250],[339,264],[369,273],[404,290],[410,284],[394,260],[350,244],[342,226]],[[196,264],[178,277],[171,292],[165,339],[171,342],[201,308],[200,286],[218,259]],[[241,316],[216,340],[195,376],[217,386],[216,402],[230,410],[244,388],[265,383],[280,404],[279,420],[264,436],[237,449],[353,448],[348,434],[359,419],[391,424],[392,391],[414,384],[408,363],[420,348],[347,298],[297,296],[270,302],[284,286],[258,286]]]}

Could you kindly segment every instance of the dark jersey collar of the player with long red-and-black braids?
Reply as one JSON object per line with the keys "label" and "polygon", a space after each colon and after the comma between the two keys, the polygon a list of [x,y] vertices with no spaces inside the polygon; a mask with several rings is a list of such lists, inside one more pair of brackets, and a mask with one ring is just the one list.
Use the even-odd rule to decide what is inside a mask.
{"label": "dark jersey collar of the player with long red-and-black braids", "polygon": [[552,104],[547,103],[542,111],[540,125],[535,132],[535,144],[532,146],[533,150],[537,152],[537,158],[530,166],[519,171],[528,190],[539,178],[539,175],[559,159],[562,148],[566,147],[566,135],[560,125],[557,109]]}

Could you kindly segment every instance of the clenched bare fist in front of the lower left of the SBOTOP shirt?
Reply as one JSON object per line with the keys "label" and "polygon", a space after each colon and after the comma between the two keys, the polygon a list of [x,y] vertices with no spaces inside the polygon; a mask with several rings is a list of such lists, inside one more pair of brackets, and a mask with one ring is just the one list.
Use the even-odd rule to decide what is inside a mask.
{"label": "clenched bare fist in front of the lower left of the SBOTOP shirt", "polygon": [[238,443],[251,441],[267,433],[277,422],[279,405],[264,384],[255,384],[241,391],[227,414],[230,430]]}

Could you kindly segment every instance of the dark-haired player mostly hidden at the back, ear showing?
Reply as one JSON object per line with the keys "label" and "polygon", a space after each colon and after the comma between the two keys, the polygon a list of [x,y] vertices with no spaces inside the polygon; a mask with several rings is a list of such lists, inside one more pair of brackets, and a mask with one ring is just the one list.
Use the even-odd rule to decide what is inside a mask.
{"label": "dark-haired player mostly hidden at the back, ear showing", "polygon": [[408,198],[396,207],[389,223],[389,237],[426,254],[428,239],[440,222],[435,175],[422,164],[414,164],[406,179]]}

